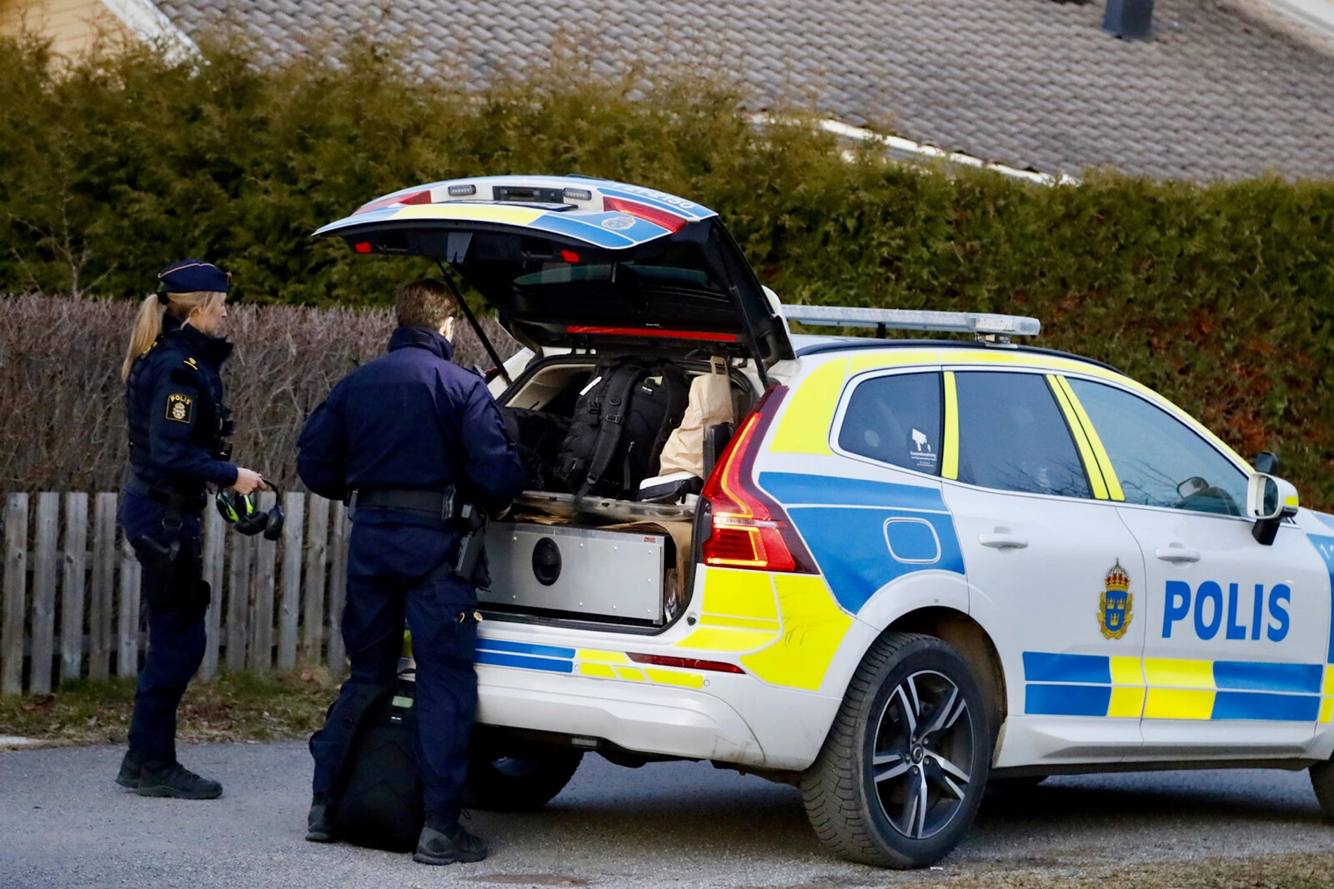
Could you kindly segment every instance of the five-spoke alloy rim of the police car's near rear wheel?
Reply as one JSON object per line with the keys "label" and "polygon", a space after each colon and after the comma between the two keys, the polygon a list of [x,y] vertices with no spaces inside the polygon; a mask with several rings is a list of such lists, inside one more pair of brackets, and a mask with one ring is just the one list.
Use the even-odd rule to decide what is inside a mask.
{"label": "five-spoke alloy rim of the police car's near rear wheel", "polygon": [[890,692],[872,737],[871,778],[886,820],[910,840],[954,821],[972,786],[974,732],[954,680],[918,670]]}

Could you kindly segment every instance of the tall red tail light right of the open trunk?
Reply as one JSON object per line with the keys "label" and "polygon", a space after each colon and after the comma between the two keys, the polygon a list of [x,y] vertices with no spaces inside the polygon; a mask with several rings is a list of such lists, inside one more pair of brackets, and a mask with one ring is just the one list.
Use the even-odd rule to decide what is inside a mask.
{"label": "tall red tail light right of the open trunk", "polygon": [[814,573],[815,565],[787,514],[751,480],[755,452],[778,412],[787,387],[768,389],[742,423],[718,460],[700,500],[706,565]]}

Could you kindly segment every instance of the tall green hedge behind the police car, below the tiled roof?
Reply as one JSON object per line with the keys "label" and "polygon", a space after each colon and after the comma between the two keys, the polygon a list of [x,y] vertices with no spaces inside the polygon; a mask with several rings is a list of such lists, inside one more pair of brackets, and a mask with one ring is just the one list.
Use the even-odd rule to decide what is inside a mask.
{"label": "tall green hedge behind the police car, below the tiled roof", "polygon": [[0,289],[133,296],[201,255],[247,301],[383,304],[428,267],[309,232],[434,179],[608,176],[718,209],[788,301],[1035,315],[1043,345],[1118,365],[1242,453],[1278,450],[1334,505],[1331,183],[1045,188],[848,161],[799,111],[756,131],[724,76],[644,87],[562,49],[466,93],[391,51],[336,51],[261,72],[221,37],[197,65],[135,51],[57,72],[0,41]]}

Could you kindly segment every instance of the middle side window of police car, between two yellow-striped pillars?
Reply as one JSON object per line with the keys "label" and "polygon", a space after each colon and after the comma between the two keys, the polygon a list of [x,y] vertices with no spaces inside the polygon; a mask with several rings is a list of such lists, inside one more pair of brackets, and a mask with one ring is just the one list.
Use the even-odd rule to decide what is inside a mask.
{"label": "middle side window of police car, between two yellow-striped pillars", "polygon": [[959,481],[1058,497],[1091,497],[1083,462],[1046,377],[954,375]]}

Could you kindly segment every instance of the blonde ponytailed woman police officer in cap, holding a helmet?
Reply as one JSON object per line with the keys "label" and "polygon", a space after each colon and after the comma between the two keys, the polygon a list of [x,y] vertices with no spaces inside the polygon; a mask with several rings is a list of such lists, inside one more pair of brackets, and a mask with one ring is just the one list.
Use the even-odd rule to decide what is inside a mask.
{"label": "blonde ponytailed woman police officer in cap, holding a helmet", "polygon": [[215,335],[227,317],[228,275],[203,260],[181,260],[157,279],[121,368],[133,474],[120,524],[143,566],[148,657],[116,782],[140,796],[211,800],[221,785],[176,762],[176,705],[204,657],[204,486],[247,494],[264,484],[259,473],[227,461],[232,423],[219,368],[232,345]]}

